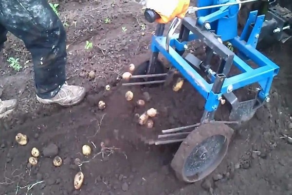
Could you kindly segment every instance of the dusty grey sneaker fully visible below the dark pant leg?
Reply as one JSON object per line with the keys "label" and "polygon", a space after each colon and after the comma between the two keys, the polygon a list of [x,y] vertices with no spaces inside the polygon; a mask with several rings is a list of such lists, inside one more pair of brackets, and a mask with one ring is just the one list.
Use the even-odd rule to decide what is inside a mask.
{"label": "dusty grey sneaker fully visible below the dark pant leg", "polygon": [[42,99],[37,96],[37,100],[43,104],[57,103],[61,106],[73,106],[78,104],[85,97],[85,88],[75,85],[68,85],[67,82],[60,88],[59,93],[51,99]]}

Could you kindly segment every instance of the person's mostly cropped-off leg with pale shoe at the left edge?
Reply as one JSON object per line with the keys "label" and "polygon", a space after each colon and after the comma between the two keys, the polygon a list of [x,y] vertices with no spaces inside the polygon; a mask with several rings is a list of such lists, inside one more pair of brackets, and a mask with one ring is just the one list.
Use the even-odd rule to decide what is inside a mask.
{"label": "person's mostly cropped-off leg with pale shoe at the left edge", "polygon": [[[4,42],[7,40],[6,34],[7,34],[6,28],[2,24],[0,24],[0,51],[4,46]],[[16,107],[17,107],[16,99],[9,99],[3,101],[0,99],[0,119],[8,116],[16,109]]]}

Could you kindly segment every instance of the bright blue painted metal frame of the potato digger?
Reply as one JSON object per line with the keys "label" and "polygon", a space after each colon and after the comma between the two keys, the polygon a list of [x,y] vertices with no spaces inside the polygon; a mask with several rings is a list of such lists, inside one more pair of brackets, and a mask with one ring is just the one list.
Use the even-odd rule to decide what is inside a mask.
{"label": "bright blue painted metal frame of the potato digger", "polygon": [[[235,0],[199,0],[198,7],[221,4],[226,2],[234,2]],[[269,96],[269,91],[273,82],[273,78],[279,72],[279,66],[273,61],[265,57],[256,50],[258,35],[261,31],[261,26],[265,16],[257,16],[257,11],[250,13],[243,29],[241,36],[237,35],[237,13],[238,6],[224,6],[212,10],[198,11],[198,23],[203,25],[205,22],[211,22],[211,30],[214,30],[217,35],[222,37],[223,41],[229,41],[237,48],[241,54],[247,59],[253,60],[258,68],[252,68],[243,59],[235,55],[233,64],[241,71],[240,74],[226,78],[221,93],[214,94],[212,92],[213,83],[208,83],[201,75],[193,69],[181,57],[175,49],[181,51],[184,49],[186,42],[179,42],[179,34],[175,34],[171,41],[169,52],[166,51],[165,43],[166,37],[157,37],[153,35],[151,49],[153,52],[160,52],[175,68],[177,68],[192,86],[206,99],[205,110],[208,112],[215,111],[219,106],[219,97],[227,93],[228,87],[232,86],[233,90],[245,87],[253,83],[259,83],[261,91],[258,98],[264,101]],[[251,33],[249,33],[249,26],[254,25]],[[197,39],[196,35],[190,32],[189,40]],[[215,76],[211,80],[214,81]]]}

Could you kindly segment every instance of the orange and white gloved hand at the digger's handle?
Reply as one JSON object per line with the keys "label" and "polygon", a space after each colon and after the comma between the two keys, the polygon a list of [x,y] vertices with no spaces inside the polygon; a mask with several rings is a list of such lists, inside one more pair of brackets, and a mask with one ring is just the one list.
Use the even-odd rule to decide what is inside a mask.
{"label": "orange and white gloved hand at the digger's handle", "polygon": [[189,7],[190,0],[147,0],[146,8],[160,15],[158,23],[167,23],[175,17],[183,18]]}

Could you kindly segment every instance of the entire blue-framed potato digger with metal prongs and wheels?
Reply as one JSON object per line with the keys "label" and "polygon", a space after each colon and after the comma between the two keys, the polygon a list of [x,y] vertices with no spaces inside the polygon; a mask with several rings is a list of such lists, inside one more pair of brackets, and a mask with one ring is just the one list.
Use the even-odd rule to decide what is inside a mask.
{"label": "entire blue-framed potato digger with metal prongs and wheels", "polygon": [[[181,142],[171,162],[179,179],[193,183],[211,174],[227,153],[234,132],[228,124],[250,120],[258,108],[270,101],[269,92],[279,66],[259,52],[257,46],[284,43],[291,38],[291,5],[292,1],[285,1],[283,5],[283,1],[279,4],[277,0],[198,0],[183,19],[175,18],[171,22],[166,36],[165,24],[157,24],[150,59],[132,74],[130,80],[137,82],[123,85],[165,84],[179,72],[205,99],[199,123],[163,130],[157,139],[146,141],[155,145]],[[240,12],[246,18],[238,35]],[[148,22],[160,17],[150,9],[144,14]],[[179,33],[175,33],[176,29]],[[187,43],[193,40],[204,43],[203,60],[188,52]],[[158,59],[159,54],[171,64],[167,72]],[[211,64],[214,56],[219,60],[217,67]],[[250,61],[256,67],[251,66]],[[232,67],[239,73],[230,75]],[[235,92],[252,84],[258,86],[256,97],[239,101]],[[225,103],[231,105],[229,120],[215,120],[215,112]]]}

